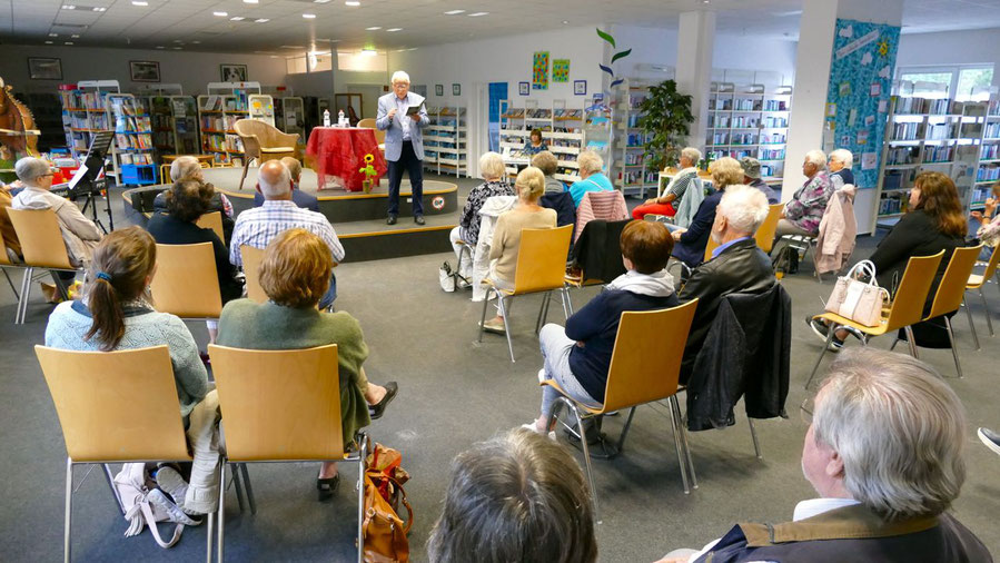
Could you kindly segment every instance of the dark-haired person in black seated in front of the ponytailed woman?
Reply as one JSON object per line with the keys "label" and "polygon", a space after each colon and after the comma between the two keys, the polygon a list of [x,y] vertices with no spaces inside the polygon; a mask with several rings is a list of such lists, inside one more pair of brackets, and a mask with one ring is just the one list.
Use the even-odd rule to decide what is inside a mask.
{"label": "dark-haired person in black seated in front of the ponytailed woman", "polygon": [[[181,180],[175,184],[166,195],[166,214],[155,214],[149,219],[147,230],[161,245],[197,245],[211,243],[215,255],[216,276],[219,279],[219,296],[222,304],[242,296],[244,284],[239,278],[239,268],[229,264],[229,251],[210,228],[196,225],[211,205],[215,188],[200,180]],[[216,320],[207,320],[209,339],[215,342]]]}

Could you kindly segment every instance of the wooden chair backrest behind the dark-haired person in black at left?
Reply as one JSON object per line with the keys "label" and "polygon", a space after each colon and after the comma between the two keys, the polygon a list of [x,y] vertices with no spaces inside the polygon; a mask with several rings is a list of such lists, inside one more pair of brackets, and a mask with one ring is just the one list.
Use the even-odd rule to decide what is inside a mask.
{"label": "wooden chair backrest behind the dark-haired person in black at left", "polygon": [[211,243],[156,245],[149,288],[157,310],[184,318],[219,318],[222,297]]}

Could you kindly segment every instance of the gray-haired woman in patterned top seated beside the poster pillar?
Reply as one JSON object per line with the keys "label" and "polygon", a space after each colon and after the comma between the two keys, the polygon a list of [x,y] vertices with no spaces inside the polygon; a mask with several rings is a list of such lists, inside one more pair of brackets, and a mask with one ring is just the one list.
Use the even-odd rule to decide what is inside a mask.
{"label": "gray-haired woman in patterned top seated beside the poster pillar", "polygon": [[820,221],[826,210],[826,201],[833,195],[833,182],[826,175],[826,155],[822,150],[810,150],[802,164],[805,184],[792,196],[781,211],[778,229],[774,233],[774,246],[771,248],[775,267],[788,269],[784,256],[789,246],[785,235],[815,237],[820,233]]}

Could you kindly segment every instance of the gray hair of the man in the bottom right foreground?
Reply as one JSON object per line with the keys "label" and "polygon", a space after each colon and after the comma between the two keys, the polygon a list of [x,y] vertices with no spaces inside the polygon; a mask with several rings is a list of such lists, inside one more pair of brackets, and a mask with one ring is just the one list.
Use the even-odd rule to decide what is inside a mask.
{"label": "gray hair of the man in the bottom right foreground", "polygon": [[961,401],[902,354],[844,350],[820,391],[816,443],[843,460],[843,486],[888,521],[944,512],[966,481]]}

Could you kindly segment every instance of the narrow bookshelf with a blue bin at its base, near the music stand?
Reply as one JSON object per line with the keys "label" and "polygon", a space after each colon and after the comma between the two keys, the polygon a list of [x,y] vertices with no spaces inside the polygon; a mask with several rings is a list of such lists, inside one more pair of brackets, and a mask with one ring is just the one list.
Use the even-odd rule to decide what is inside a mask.
{"label": "narrow bookshelf with a blue bin at its base, near the music stand", "polygon": [[152,120],[146,106],[131,93],[108,95],[108,108],[115,119],[112,160],[120,172],[120,185],[157,184]]}

